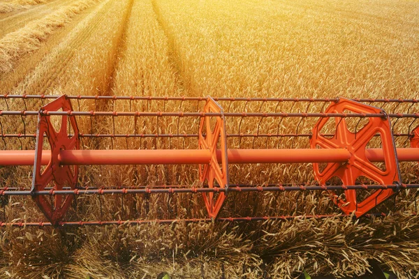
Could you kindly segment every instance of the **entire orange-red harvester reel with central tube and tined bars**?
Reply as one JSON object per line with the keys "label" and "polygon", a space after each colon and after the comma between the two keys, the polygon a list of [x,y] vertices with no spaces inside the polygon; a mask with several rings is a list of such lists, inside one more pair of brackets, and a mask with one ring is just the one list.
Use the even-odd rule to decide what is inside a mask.
{"label": "entire orange-red harvester reel with central tube and tined bars", "polygon": [[[325,191],[330,194],[334,202],[343,214],[357,218],[368,215],[382,216],[384,213],[371,213],[372,209],[388,200],[401,189],[419,188],[419,184],[404,184],[399,172],[399,162],[419,161],[419,128],[411,129],[413,123],[419,118],[419,114],[411,114],[409,110],[417,100],[348,100],[337,99],[295,99],[295,98],[181,98],[181,97],[117,97],[117,96],[0,96],[6,110],[0,110],[1,137],[5,150],[0,151],[0,166],[33,165],[33,180],[31,189],[1,188],[0,195],[31,196],[39,209],[45,215],[48,222],[3,222],[1,226],[50,226],[50,225],[108,225],[108,224],[140,224],[140,223],[172,223],[182,219],[172,220],[108,220],[108,221],[65,221],[71,203],[76,195],[105,195],[105,194],[174,194],[174,193],[200,193],[203,196],[203,204],[207,211],[207,218],[183,219],[186,222],[198,221],[251,221],[251,220],[286,220],[297,218],[295,214],[288,216],[240,216],[223,217],[220,212],[228,199],[228,193],[264,193],[264,192],[289,192],[289,191]],[[40,102],[48,100],[41,110],[27,110],[27,102]],[[9,110],[9,104],[14,101],[24,103],[25,110]],[[128,112],[101,112],[80,111],[80,101],[96,102],[129,102]],[[133,102],[163,102],[163,112],[138,112],[131,111]],[[169,101],[190,104],[196,103],[195,112],[166,112],[166,103]],[[79,111],[73,110],[77,102]],[[165,103],[166,102],[166,103]],[[205,102],[205,105],[203,105]],[[224,111],[219,102],[227,103],[228,110]],[[249,103],[260,103],[257,112],[250,110]],[[73,105],[72,105],[73,103]],[[240,112],[230,112],[230,106],[235,103],[244,104]],[[277,112],[279,105],[291,103],[291,110],[296,103],[307,104],[306,112]],[[410,105],[408,113],[386,113],[383,109],[367,105],[376,103],[382,106],[392,105],[394,110],[400,104]],[[262,112],[261,107],[271,104],[275,107],[274,112]],[[272,105],[273,104],[273,105]],[[275,104],[277,104],[275,106]],[[324,112],[308,112],[311,104],[323,104],[328,106]],[[203,106],[202,106],[203,105]],[[192,105],[189,105],[192,107]],[[240,107],[240,105],[238,106]],[[288,105],[289,107],[289,105]],[[10,134],[7,131],[13,129],[15,123],[8,120],[14,116],[22,119],[24,132]],[[60,117],[59,130],[54,128],[51,117]],[[27,119],[37,117],[36,134],[26,132]],[[128,117],[133,119],[135,127],[138,119],[154,118],[157,125],[163,117],[176,117],[178,119],[198,119],[197,134],[161,134],[159,127],[157,133],[139,134],[137,130],[130,135],[120,135],[114,130],[109,134],[83,133],[78,128],[77,119],[87,117],[92,121],[95,117]],[[275,123],[284,119],[297,119],[297,131],[295,134],[260,133],[261,123],[264,119],[273,118]],[[238,133],[228,133],[226,121],[233,119],[233,128]],[[234,121],[236,119],[236,121]],[[244,134],[240,131],[243,119],[256,119],[257,133]],[[259,120],[260,119],[260,120]],[[300,134],[298,129],[304,121],[312,119],[311,133]],[[394,124],[390,123],[394,120]],[[400,119],[410,119],[409,131],[405,134],[393,133],[395,123]],[[317,121],[315,123],[315,121]],[[31,121],[34,122],[35,121]],[[308,123],[307,122],[307,123]],[[238,125],[236,125],[238,124]],[[335,133],[330,133],[334,130]],[[329,133],[329,134],[328,134]],[[115,138],[142,139],[145,137],[173,138],[184,137],[198,140],[198,149],[126,149],[126,150],[94,150],[81,149],[80,141],[83,138],[108,137],[112,141]],[[254,149],[257,139],[266,139],[269,142],[283,137],[309,139],[310,148],[266,148]],[[396,148],[395,137],[406,137],[410,140],[410,148]],[[36,142],[35,150],[8,150],[8,140],[29,138]],[[252,149],[230,149],[228,141],[241,141],[253,138]],[[45,139],[48,149],[45,149]],[[380,148],[370,148],[370,142],[381,142]],[[279,142],[279,141],[278,141]],[[127,144],[128,146],[128,144]],[[265,163],[312,163],[314,177],[318,183],[314,185],[302,184],[298,186],[288,184],[233,184],[230,181],[229,165],[232,164],[265,164]],[[377,165],[378,163],[378,165]],[[80,188],[78,186],[78,174],[80,165],[198,165],[200,187],[196,186],[145,186],[138,188]],[[358,179],[366,178],[370,183],[362,183]],[[340,181],[337,183],[336,181]],[[336,185],[339,184],[339,185]],[[362,190],[366,190],[363,191]],[[361,195],[360,192],[363,194]],[[367,193],[367,195],[365,195]],[[344,195],[343,195],[344,194]],[[335,215],[314,215],[307,217],[325,218]]]}

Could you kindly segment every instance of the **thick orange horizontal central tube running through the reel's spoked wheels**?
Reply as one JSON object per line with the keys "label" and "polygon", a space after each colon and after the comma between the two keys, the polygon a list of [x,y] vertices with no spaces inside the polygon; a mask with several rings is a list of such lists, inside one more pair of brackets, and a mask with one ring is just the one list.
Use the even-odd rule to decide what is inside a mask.
{"label": "thick orange horizontal central tube running through the reel's spoked wheels", "polygon": [[[367,149],[367,158],[382,162],[382,149]],[[228,149],[228,162],[237,163],[337,163],[346,162],[351,153],[346,149]],[[47,165],[51,153],[43,151],[41,163]],[[217,152],[221,157],[221,151]],[[190,165],[207,164],[207,150],[147,149],[147,150],[64,150],[59,155],[63,165]],[[419,149],[397,149],[399,161],[419,161]],[[35,151],[0,151],[0,165],[34,165]],[[221,161],[221,158],[219,158]]]}

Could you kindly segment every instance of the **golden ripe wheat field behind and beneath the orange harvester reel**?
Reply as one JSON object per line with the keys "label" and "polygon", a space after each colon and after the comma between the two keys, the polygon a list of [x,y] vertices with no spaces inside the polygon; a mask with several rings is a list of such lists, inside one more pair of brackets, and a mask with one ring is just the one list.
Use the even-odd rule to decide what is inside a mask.
{"label": "golden ripe wheat field behind and beneath the orange harvester reel", "polygon": [[[419,98],[416,0],[0,0],[0,94],[273,98]],[[220,102],[229,112],[320,112],[261,102]],[[39,110],[42,100],[0,102]],[[82,111],[202,111],[179,101],[73,102]],[[384,107],[406,112],[408,105]],[[417,110],[414,105],[411,110]],[[83,133],[196,133],[199,119],[78,118]],[[240,119],[228,119],[237,133]],[[36,133],[36,118],[0,116],[4,133]],[[316,119],[246,119],[244,133],[309,133]],[[403,133],[409,122],[398,123]],[[138,129],[138,130],[137,130]],[[397,139],[398,147],[406,144]],[[33,138],[0,149],[34,149]],[[228,139],[234,148],[309,148],[309,140]],[[82,149],[197,149],[194,138],[84,139]],[[418,183],[417,163],[400,164]],[[31,167],[1,167],[1,187],[29,189]],[[197,166],[80,167],[82,187],[196,185]],[[311,164],[231,165],[233,183],[313,183]],[[231,193],[221,216],[336,213],[328,195]],[[385,218],[296,218],[255,223],[177,223],[14,228],[0,234],[0,278],[297,278],[361,276],[369,259],[398,278],[419,276],[416,190]],[[299,204],[296,208],[296,203]],[[45,220],[29,197],[0,199],[1,222]],[[205,218],[200,195],[83,196],[66,220]]]}

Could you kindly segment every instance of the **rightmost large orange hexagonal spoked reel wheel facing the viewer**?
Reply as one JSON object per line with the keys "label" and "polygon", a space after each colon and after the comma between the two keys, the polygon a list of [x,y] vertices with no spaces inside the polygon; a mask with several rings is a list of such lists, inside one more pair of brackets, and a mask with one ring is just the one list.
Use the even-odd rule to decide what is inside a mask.
{"label": "rightmost large orange hexagonal spoked reel wheel facing the viewer", "polygon": [[[360,217],[373,209],[377,204],[381,204],[395,193],[395,189],[380,189],[365,197],[365,199],[358,199],[357,191],[347,188],[346,186],[355,185],[356,179],[360,176],[365,176],[380,185],[396,186],[402,185],[402,180],[399,174],[399,162],[397,161],[397,151],[395,142],[392,137],[390,119],[383,110],[369,105],[356,103],[353,100],[341,98],[338,103],[330,105],[325,113],[344,114],[351,112],[355,114],[365,114],[364,119],[367,119],[367,124],[352,133],[348,130],[346,119],[335,118],[336,135],[332,138],[321,135],[319,131],[330,121],[330,118],[325,117],[320,119],[313,129],[313,137],[311,137],[310,145],[312,149],[321,147],[322,149],[346,149],[351,157],[344,164],[342,163],[328,163],[322,171],[319,169],[319,164],[314,163],[314,174],[316,179],[322,185],[328,183],[334,176],[341,179],[345,190],[346,199],[340,199],[334,191],[332,199],[344,211],[350,214],[355,212],[355,216]],[[382,117],[367,116],[367,114],[382,114]],[[381,137],[382,151],[380,151],[380,160],[385,163],[385,169],[380,169],[371,161],[377,160],[374,158],[376,153],[367,150],[367,144],[373,137],[378,135]],[[367,186],[365,186],[367,189]],[[397,188],[397,190],[399,190]]]}

